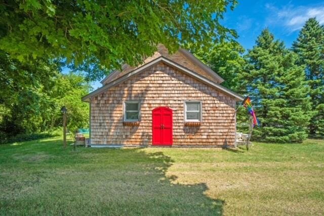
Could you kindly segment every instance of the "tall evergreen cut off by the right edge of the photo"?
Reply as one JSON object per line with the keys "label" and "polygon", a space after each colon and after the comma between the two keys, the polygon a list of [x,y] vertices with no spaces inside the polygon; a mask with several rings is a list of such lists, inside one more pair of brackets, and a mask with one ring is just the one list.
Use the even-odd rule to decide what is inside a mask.
{"label": "tall evergreen cut off by the right edge of the photo", "polygon": [[324,27],[310,18],[293,43],[299,56],[298,64],[305,66],[313,116],[309,124],[311,136],[324,136]]}

